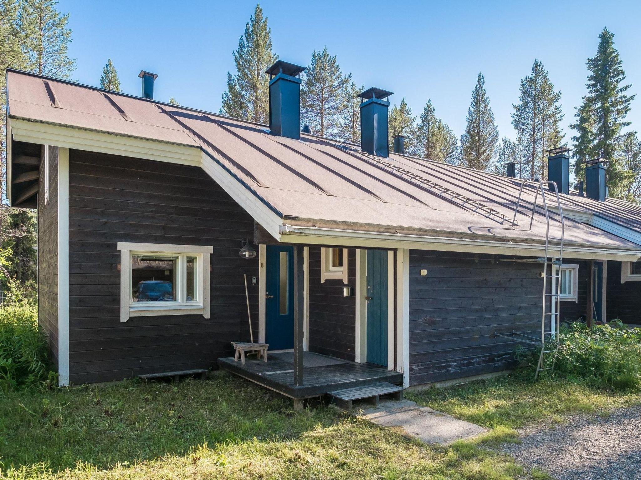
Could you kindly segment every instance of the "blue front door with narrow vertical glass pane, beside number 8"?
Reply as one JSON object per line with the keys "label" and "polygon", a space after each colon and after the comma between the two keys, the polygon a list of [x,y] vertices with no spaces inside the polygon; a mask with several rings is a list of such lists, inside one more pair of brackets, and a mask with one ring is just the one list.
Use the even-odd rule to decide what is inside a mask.
{"label": "blue front door with narrow vertical glass pane, beside number 8", "polygon": [[270,350],[294,348],[294,247],[266,251],[265,342]]}

